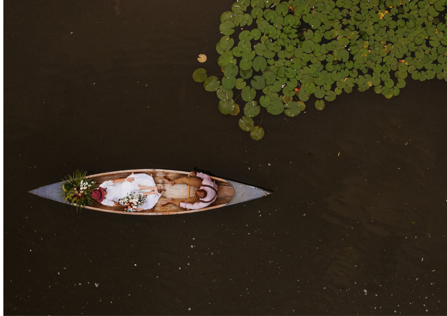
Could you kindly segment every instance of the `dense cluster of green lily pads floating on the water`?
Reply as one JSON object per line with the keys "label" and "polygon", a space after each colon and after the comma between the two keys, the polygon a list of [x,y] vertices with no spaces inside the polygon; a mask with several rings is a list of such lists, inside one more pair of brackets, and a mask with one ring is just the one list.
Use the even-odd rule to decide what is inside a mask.
{"label": "dense cluster of green lily pads floating on the water", "polygon": [[353,88],[391,98],[409,76],[447,81],[446,1],[239,0],[220,16],[223,77],[199,68],[193,79],[216,92],[222,114],[243,104],[239,126],[258,140],[264,109],[294,117],[312,95],[323,110]]}

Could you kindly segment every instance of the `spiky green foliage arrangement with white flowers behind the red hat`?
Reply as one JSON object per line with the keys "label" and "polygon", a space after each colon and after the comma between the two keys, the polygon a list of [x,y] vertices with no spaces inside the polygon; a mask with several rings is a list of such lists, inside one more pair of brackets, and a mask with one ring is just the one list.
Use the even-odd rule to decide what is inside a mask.
{"label": "spiky green foliage arrangement with white flowers behind the red hat", "polygon": [[76,170],[73,175],[68,175],[62,185],[61,196],[70,204],[76,204],[78,207],[92,205],[92,191],[96,189],[95,181],[87,178],[87,173]]}

